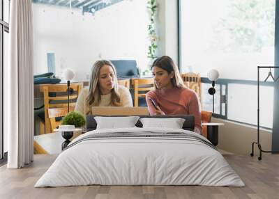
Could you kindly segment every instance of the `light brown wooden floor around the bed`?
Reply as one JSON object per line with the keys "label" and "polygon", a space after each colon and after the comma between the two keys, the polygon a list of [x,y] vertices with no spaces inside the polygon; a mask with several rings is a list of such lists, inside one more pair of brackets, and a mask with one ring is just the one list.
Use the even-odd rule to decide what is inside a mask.
{"label": "light brown wooden floor around the bed", "polygon": [[0,198],[279,198],[279,155],[257,157],[225,154],[246,187],[213,186],[70,186],[33,188],[52,164],[55,155],[35,155],[30,166],[19,170],[0,168]]}

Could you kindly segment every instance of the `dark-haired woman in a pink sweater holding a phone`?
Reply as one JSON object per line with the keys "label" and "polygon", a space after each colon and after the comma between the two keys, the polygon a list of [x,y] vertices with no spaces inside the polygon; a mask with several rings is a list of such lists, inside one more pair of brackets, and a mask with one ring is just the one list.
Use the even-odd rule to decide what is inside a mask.
{"label": "dark-haired woman in a pink sweater holding a phone", "polygon": [[[153,115],[194,115],[195,132],[202,132],[201,106],[194,90],[186,88],[178,67],[169,56],[154,61],[152,67],[155,89],[146,94],[146,102]],[[152,102],[153,101],[153,102]]]}

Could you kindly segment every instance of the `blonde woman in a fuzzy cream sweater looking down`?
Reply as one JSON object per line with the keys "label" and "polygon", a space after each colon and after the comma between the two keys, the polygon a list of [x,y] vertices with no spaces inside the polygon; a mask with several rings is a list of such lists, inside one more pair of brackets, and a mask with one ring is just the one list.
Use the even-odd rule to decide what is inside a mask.
{"label": "blonde woman in a fuzzy cream sweater looking down", "polygon": [[91,69],[89,88],[83,88],[75,111],[90,115],[92,106],[133,106],[128,88],[118,85],[116,70],[110,61],[100,60]]}

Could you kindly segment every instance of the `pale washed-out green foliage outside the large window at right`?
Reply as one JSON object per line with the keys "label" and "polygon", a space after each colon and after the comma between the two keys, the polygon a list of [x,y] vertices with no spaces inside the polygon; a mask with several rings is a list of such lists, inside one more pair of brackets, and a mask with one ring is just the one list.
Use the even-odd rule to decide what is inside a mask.
{"label": "pale washed-out green foliage outside the large window at right", "polygon": [[213,26],[216,39],[210,49],[260,52],[274,46],[275,1],[229,1],[228,14]]}

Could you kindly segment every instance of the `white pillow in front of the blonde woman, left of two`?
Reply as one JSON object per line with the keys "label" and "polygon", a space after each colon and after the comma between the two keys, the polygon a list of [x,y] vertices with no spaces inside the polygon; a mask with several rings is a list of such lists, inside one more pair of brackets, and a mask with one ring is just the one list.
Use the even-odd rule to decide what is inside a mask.
{"label": "white pillow in front of the blonde woman, left of two", "polygon": [[96,129],[119,129],[136,127],[135,124],[139,120],[139,116],[128,117],[101,117],[96,116],[94,119],[97,122]]}

